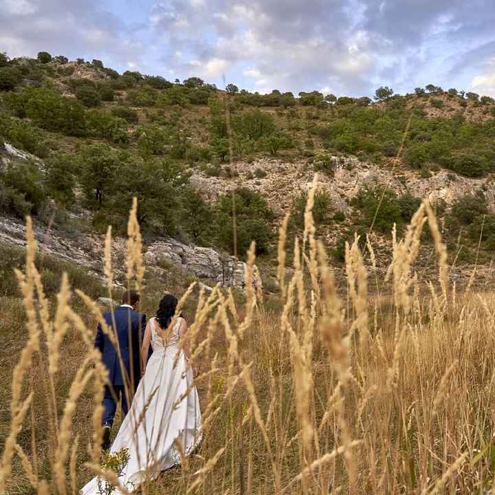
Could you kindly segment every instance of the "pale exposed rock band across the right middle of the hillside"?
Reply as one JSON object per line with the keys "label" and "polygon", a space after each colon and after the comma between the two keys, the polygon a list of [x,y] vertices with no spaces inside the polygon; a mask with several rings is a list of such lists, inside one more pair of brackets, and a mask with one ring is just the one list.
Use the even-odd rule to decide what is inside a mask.
{"label": "pale exposed rock band across the right middle of the hillside", "polygon": [[[432,177],[421,177],[419,172],[404,166],[379,166],[360,162],[355,157],[333,157],[333,161],[332,176],[318,173],[318,187],[329,194],[333,210],[345,212],[349,209],[349,200],[358,194],[362,186],[377,181],[395,190],[397,195],[410,192],[413,196],[428,198],[432,202],[443,199],[447,206],[451,206],[459,197],[483,188],[489,208],[495,211],[495,190],[489,186],[489,177],[470,179],[448,170],[440,170]],[[294,197],[311,187],[314,177],[313,166],[303,162],[281,162],[278,159],[264,158],[252,164],[239,162],[234,168],[239,174],[236,179],[207,177],[195,171],[190,180],[192,185],[205,192],[210,201],[233,188],[243,186],[260,192],[271,208],[282,212],[291,208]],[[252,177],[257,168],[266,173],[265,177]]]}

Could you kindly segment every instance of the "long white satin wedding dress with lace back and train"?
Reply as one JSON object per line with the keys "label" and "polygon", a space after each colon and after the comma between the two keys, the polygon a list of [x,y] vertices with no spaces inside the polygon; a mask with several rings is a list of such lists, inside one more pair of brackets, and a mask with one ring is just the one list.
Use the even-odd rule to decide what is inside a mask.
{"label": "long white satin wedding dress with lace back and train", "polygon": [[[180,463],[175,440],[183,452],[190,453],[201,441],[201,412],[192,370],[186,372],[186,356],[179,350],[180,318],[172,335],[165,342],[157,333],[155,318],[151,319],[153,354],[146,365],[111,452],[129,449],[129,462],[119,481],[129,492],[145,480]],[[186,395],[187,393],[187,395]],[[119,493],[115,489],[114,493]],[[98,478],[93,478],[81,495],[100,495]]]}

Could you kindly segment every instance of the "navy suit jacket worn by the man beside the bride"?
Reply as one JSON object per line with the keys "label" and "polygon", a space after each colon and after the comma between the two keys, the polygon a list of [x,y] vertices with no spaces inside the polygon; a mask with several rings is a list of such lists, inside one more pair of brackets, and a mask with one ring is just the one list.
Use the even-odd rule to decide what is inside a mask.
{"label": "navy suit jacket worn by the man beside the bride", "polygon": [[[115,386],[124,385],[124,377],[135,391],[141,378],[141,344],[146,327],[146,315],[134,311],[128,306],[119,306],[113,311],[103,314],[107,325],[115,331],[115,338],[120,347],[122,366],[118,352],[108,336],[98,324],[95,347],[102,353],[102,361],[109,371],[110,383]],[[113,325],[115,322],[115,326]]]}

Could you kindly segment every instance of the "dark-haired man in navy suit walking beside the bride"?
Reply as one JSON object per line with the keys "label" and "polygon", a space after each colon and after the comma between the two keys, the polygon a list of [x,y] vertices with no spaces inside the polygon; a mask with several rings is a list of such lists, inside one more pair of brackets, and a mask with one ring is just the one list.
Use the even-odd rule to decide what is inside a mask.
{"label": "dark-haired man in navy suit walking beside the bride", "polygon": [[[110,431],[120,399],[122,418],[129,410],[129,404],[141,378],[141,343],[146,315],[136,311],[140,296],[137,292],[126,291],[122,304],[114,311],[103,314],[104,320],[113,330],[118,349],[113,347],[109,337],[100,325],[96,331],[95,347],[102,353],[102,362],[109,371],[109,384],[103,397],[103,439],[102,448],[110,447]],[[120,351],[120,352],[119,352]]]}

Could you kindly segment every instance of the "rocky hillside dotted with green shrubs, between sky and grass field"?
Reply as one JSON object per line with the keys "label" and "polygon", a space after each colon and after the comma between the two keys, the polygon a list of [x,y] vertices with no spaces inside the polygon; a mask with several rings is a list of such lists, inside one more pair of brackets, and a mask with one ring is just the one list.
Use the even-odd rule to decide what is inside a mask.
{"label": "rocky hillside dotted with green shrubs, between sky and grass field", "polygon": [[[315,217],[336,267],[344,242],[372,223],[384,267],[393,224],[400,232],[423,198],[459,266],[452,274],[476,260],[488,266],[494,101],[434,85],[383,93],[376,102],[318,91],[259,95],[199,78],[118,74],[100,61],[0,56],[0,239],[20,242],[32,214],[45,250],[98,272],[107,225],[118,253],[137,197],[150,266],[242,284],[232,193],[238,252],[254,239],[270,272],[278,225],[290,211],[289,234],[300,232],[318,173]],[[426,272],[429,265],[425,256]]]}

